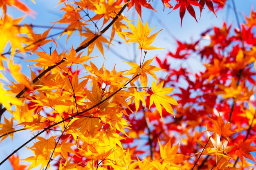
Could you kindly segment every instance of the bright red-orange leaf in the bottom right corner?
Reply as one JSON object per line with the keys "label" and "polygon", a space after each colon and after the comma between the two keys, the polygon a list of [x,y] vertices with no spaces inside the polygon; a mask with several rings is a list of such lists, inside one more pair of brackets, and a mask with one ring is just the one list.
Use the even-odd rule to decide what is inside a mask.
{"label": "bright red-orange leaf in the bottom right corner", "polygon": [[253,141],[255,141],[255,139],[247,139],[245,141],[243,141],[243,139],[239,139],[238,143],[234,144],[234,146],[237,148],[235,153],[240,158],[242,165],[244,157],[256,162],[252,154],[249,153],[256,151],[256,147],[251,145]]}

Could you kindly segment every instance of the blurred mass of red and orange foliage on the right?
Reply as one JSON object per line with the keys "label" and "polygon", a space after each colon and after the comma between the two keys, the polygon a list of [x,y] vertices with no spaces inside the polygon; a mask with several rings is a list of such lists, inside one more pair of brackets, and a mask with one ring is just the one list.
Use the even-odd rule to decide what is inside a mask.
{"label": "blurred mass of red and orange foliage on the right", "polygon": [[[159,81],[164,80],[164,86],[175,87],[175,99],[182,107],[175,107],[175,118],[163,111],[164,123],[159,121],[156,110],[144,110],[142,103],[138,112],[143,114],[137,113],[136,119],[127,118],[132,126],[139,124],[133,129],[134,140],[143,140],[144,132],[148,132],[145,145],[153,148],[155,158],[157,139],[167,142],[171,137],[171,143],[182,141],[180,151],[184,155],[199,154],[206,146],[202,155],[208,156],[201,156],[199,162],[190,159],[186,166],[197,163],[195,169],[201,170],[254,168],[255,155],[250,152],[256,151],[255,12],[252,11],[246,20],[241,30],[224,22],[222,27],[214,26],[194,42],[177,40],[174,52],[167,53],[163,60],[156,57],[160,68],[168,73]],[[206,38],[209,40],[207,45]],[[200,73],[191,72],[186,64],[173,68],[168,62],[169,58],[189,62],[195,56],[202,61],[198,67],[205,68]],[[135,106],[131,104],[130,107]],[[207,139],[209,143],[206,144]],[[132,146],[134,140],[129,139],[126,143]],[[198,146],[198,142],[202,146]],[[141,154],[136,146],[133,149],[135,154]],[[144,151],[142,155],[146,153]]]}

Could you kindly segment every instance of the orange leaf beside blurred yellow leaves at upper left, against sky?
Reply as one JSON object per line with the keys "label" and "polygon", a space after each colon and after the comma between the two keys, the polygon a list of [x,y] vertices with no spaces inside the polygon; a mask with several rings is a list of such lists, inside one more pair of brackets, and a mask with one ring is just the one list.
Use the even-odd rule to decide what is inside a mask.
{"label": "orange leaf beside blurred yellow leaves at upper left, against sky", "polygon": [[27,33],[28,37],[21,37],[21,42],[24,44],[28,44],[28,46],[25,46],[24,49],[25,51],[36,51],[38,47],[45,45],[47,42],[50,42],[51,40],[46,40],[47,35],[49,34],[49,31],[51,30],[48,29],[45,31],[43,34],[35,34],[33,29],[25,24],[25,32]]}

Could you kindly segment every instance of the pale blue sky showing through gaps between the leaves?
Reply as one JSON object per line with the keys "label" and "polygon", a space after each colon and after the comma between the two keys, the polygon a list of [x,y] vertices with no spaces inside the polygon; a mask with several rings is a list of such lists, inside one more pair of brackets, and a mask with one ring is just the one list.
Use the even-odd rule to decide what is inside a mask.
{"label": "pale blue sky showing through gaps between the leaves", "polygon": [[[22,21],[22,23],[52,26],[53,23],[51,22],[60,20],[62,18],[63,12],[58,11],[58,9],[61,6],[56,7],[58,0],[35,0],[35,1],[36,1],[36,4],[33,4],[30,0],[23,0],[23,2],[28,4],[28,6],[31,9],[37,12],[37,15],[35,15],[36,17],[35,19],[27,16]],[[166,53],[169,50],[171,51],[175,50],[176,44],[173,36],[178,40],[190,42],[191,40],[198,39],[200,36],[200,33],[205,31],[206,29],[211,28],[212,26],[222,26],[224,20],[228,21],[227,24],[232,23],[233,26],[235,27],[237,26],[236,20],[234,17],[234,11],[231,5],[231,0],[227,1],[227,8],[225,8],[225,10],[220,10],[217,12],[218,18],[216,18],[216,16],[208,9],[204,9],[202,11],[202,16],[200,18],[200,12],[198,10],[198,7],[195,7],[198,23],[186,11],[186,14],[182,22],[182,27],[180,27],[180,15],[178,10],[175,10],[169,13],[170,10],[167,8],[165,11],[163,11],[163,5],[161,1],[155,0],[154,2],[158,2],[157,4],[153,5],[153,7],[158,12],[155,13],[155,12],[152,12],[152,10],[143,8],[142,19],[144,21],[144,24],[146,21],[149,22],[150,28],[152,28],[153,26],[156,26],[155,29],[152,31],[152,33],[155,33],[160,29],[164,28],[164,30],[162,30],[157,35],[155,42],[153,43],[153,46],[161,47],[164,49],[148,51],[148,54],[147,54],[148,59],[151,57],[154,57],[155,55],[158,55],[158,57],[160,58],[164,58],[166,56]],[[244,21],[243,14],[249,15],[252,7],[256,8],[256,1],[255,0],[235,0],[235,2],[236,2],[237,11],[239,13],[240,22],[243,23]],[[129,20],[134,20],[135,21],[134,24],[137,25],[138,16],[132,15],[131,12],[135,13],[134,9],[131,9],[128,12],[127,10],[125,10],[124,15],[127,15]],[[17,11],[14,8],[8,8],[8,13],[12,15],[13,18],[24,15],[23,13]],[[59,24],[57,23],[55,24],[55,26],[59,26]],[[35,30],[36,30],[36,33],[42,33],[46,29],[35,29]],[[50,32],[50,34],[54,34],[58,31],[59,30],[53,30]],[[109,31],[107,31],[107,35],[108,33]],[[81,41],[77,34],[78,33],[74,33],[74,35],[76,36],[70,38],[67,44],[65,44],[64,38],[58,39],[56,41],[59,43],[59,47],[57,50],[59,52],[62,52],[63,49],[65,50],[70,49],[73,44],[74,44],[74,48],[78,47]],[[121,39],[117,38],[117,40],[121,40]],[[124,41],[122,40],[122,42]],[[131,43],[130,45],[127,45],[127,44],[118,44],[115,42],[113,42],[113,44],[115,46],[111,46],[111,49],[114,50],[116,53],[127,58],[128,60],[133,60],[134,55],[136,55],[137,56],[136,62],[139,63],[139,49],[137,44]],[[48,46],[51,46],[51,44],[49,43]],[[86,54],[86,51],[87,50],[85,50],[85,54]],[[117,57],[110,50],[105,51],[106,60],[103,59],[103,56],[98,52],[96,48],[94,49],[94,52],[91,54],[91,56],[99,56],[92,60],[92,62],[94,62],[94,64],[96,64],[99,67],[104,64],[106,68],[111,70],[116,64],[117,71],[129,69],[128,65],[122,62],[122,59]],[[34,57],[34,55],[27,56],[25,60],[31,60],[32,57]],[[195,56],[195,59],[196,59],[196,56]],[[193,65],[193,69],[194,69],[193,71],[200,71],[204,69],[203,66],[200,65],[195,59],[192,58],[189,61],[189,63]],[[182,64],[182,63],[172,63],[174,62],[174,60],[170,60],[170,62],[171,62],[171,66],[179,66],[180,64]],[[24,62],[24,60],[16,59],[15,63],[22,64],[22,72],[27,75],[30,75],[30,70],[27,65],[33,64],[32,62]],[[163,73],[157,73],[157,75],[163,75]],[[5,113],[4,115],[8,117],[8,113]],[[2,153],[0,155],[0,159],[1,160],[4,159],[6,155],[9,155],[13,150],[18,148],[18,146],[23,144],[30,137],[32,137],[32,134],[30,134],[29,131],[24,131],[24,132],[15,134],[13,137],[13,141],[11,141],[11,139],[4,140],[0,144],[0,150]],[[29,155],[29,151],[25,150],[25,148],[19,151],[20,158],[26,158],[27,155]],[[4,163],[1,169],[10,169],[9,162]]]}

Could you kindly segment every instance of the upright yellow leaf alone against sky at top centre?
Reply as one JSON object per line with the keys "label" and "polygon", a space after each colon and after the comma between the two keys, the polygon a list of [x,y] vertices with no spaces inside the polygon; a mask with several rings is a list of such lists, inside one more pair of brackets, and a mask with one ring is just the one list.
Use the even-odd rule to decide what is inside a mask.
{"label": "upright yellow leaf alone against sky at top centre", "polygon": [[137,28],[130,22],[128,22],[128,25],[129,25],[132,33],[131,32],[122,33],[126,37],[130,38],[126,42],[139,43],[139,49],[144,49],[144,50],[161,49],[161,48],[157,48],[157,47],[149,46],[149,45],[155,40],[155,37],[157,36],[157,34],[160,31],[162,31],[162,29],[160,31],[158,31],[157,33],[154,33],[153,35],[150,35],[150,37],[148,37],[150,34],[150,31],[152,31],[152,29],[154,29],[154,28],[149,29],[148,22],[146,22],[145,26],[143,26],[143,24],[141,23],[141,20],[139,18]]}

